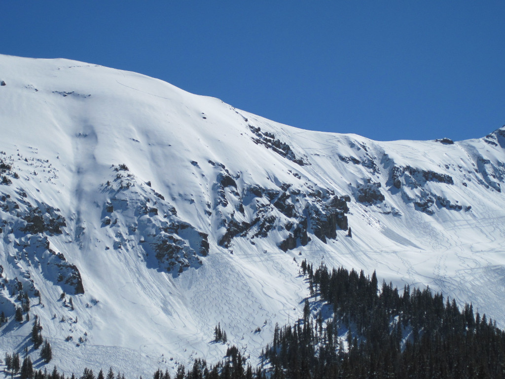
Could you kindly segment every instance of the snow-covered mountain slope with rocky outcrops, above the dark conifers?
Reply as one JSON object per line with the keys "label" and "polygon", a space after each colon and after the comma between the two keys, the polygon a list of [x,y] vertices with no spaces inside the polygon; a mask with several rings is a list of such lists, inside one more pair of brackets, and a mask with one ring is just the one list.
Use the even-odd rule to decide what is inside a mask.
{"label": "snow-covered mountain slope with rocky outcrops, above the dark conifers", "polygon": [[37,315],[69,374],[220,360],[218,323],[256,363],[309,296],[301,259],[505,326],[505,127],[378,142],[65,59],[0,56],[0,81],[2,356],[38,357]]}

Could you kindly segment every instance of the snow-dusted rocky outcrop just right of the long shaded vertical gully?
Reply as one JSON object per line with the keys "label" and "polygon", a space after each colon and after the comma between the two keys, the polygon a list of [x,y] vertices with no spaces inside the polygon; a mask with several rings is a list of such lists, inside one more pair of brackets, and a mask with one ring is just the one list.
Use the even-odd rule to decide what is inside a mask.
{"label": "snow-dusted rocky outcrop just right of the long shaded vertical gully", "polygon": [[[225,173],[220,182],[233,185],[234,180]],[[135,250],[149,267],[174,275],[201,266],[200,257],[209,254],[208,235],[181,220],[175,207],[147,183],[119,173],[108,187],[102,227],[115,230],[114,249]]]}

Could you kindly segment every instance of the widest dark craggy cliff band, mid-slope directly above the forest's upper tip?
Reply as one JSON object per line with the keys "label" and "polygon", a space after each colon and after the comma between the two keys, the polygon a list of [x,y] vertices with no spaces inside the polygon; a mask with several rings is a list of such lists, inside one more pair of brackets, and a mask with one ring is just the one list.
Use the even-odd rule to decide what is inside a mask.
{"label": "widest dark craggy cliff band, mid-slope directly above the forest's upper tip", "polygon": [[[213,189],[215,214],[224,229],[218,244],[224,248],[230,248],[237,237],[254,240],[267,238],[272,230],[285,230],[287,236],[278,246],[287,251],[307,245],[310,233],[326,243],[327,239],[336,239],[337,229],[348,227],[345,214],[349,211],[349,196],[338,197],[328,189],[314,189],[310,185],[302,192],[289,183],[273,188],[250,185],[239,189],[224,165],[213,166],[219,168]],[[240,213],[230,214],[230,206]]]}

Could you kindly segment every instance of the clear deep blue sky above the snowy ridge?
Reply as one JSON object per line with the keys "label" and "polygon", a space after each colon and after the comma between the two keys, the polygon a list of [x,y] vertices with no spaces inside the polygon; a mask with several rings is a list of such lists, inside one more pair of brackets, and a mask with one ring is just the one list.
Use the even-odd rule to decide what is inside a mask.
{"label": "clear deep blue sky above the snowy ridge", "polygon": [[505,1],[15,1],[0,53],[136,71],[378,140],[505,124]]}

